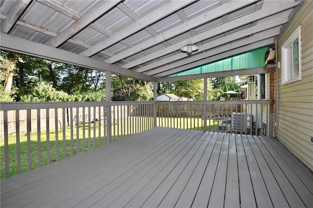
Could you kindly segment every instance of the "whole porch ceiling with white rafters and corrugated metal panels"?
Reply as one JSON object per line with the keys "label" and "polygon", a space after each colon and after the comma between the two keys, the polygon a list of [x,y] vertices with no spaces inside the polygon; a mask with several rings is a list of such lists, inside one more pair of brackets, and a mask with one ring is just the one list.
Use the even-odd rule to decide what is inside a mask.
{"label": "whole porch ceiling with white rafters and corrugated metal panels", "polygon": [[[273,43],[301,1],[0,3],[1,49],[155,81]],[[180,51],[189,40],[199,46],[191,56]],[[75,63],[75,59],[81,61]]]}

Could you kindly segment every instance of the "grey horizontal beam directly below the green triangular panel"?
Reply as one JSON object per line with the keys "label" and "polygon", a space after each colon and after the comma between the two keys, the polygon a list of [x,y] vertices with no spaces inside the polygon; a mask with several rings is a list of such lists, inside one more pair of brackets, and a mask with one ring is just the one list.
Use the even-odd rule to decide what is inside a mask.
{"label": "grey horizontal beam directly below the green triangular panel", "polygon": [[228,71],[218,71],[201,74],[191,74],[182,76],[170,76],[170,77],[159,77],[157,82],[169,82],[169,81],[181,81],[181,80],[192,80],[192,79],[203,79],[203,78],[214,78],[224,76],[237,76],[237,75],[248,75],[248,74],[261,74],[270,72],[265,68],[250,68],[250,69],[236,69]]}

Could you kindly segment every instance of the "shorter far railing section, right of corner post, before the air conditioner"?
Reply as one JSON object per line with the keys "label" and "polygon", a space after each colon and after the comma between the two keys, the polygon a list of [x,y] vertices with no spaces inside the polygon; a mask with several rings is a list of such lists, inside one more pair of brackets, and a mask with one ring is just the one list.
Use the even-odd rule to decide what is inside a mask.
{"label": "shorter far railing section, right of corner post, before the air conditioner", "polygon": [[[159,126],[268,136],[269,100],[158,101]],[[236,121],[236,122],[234,122]]]}

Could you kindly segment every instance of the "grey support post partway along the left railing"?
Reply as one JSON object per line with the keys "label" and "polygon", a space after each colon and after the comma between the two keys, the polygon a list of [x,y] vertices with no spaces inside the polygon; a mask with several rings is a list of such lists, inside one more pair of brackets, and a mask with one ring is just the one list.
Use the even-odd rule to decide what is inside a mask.
{"label": "grey support post partway along the left railing", "polygon": [[[111,103],[111,71],[106,71],[106,101]],[[107,139],[106,143],[112,142],[112,116],[111,105],[106,106],[106,121],[107,121]]]}

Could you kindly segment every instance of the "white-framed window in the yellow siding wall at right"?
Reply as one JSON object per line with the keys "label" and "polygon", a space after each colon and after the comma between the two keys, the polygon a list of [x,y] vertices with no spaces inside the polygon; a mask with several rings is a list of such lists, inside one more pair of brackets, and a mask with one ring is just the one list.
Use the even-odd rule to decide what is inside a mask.
{"label": "white-framed window in the yellow siding wall at right", "polygon": [[301,80],[301,25],[282,46],[282,84]]}

